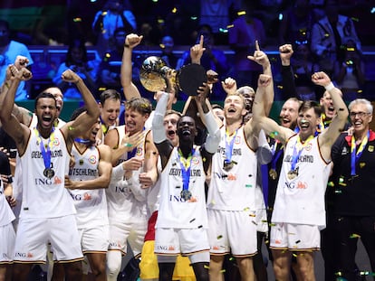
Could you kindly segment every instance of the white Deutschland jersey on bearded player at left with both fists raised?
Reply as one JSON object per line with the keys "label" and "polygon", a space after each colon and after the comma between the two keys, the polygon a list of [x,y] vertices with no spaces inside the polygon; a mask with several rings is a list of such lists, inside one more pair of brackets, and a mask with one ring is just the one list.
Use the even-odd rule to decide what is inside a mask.
{"label": "white Deutschland jersey on bearded player at left with both fists raised", "polygon": [[[70,154],[63,133],[55,129],[49,139],[38,136],[36,129],[31,135],[24,155],[20,156],[22,168],[23,201],[21,218],[56,218],[75,214],[72,197],[64,187],[64,176],[69,172]],[[38,134],[38,135],[36,135]],[[53,177],[43,174],[45,169],[41,141],[50,144]]]}

